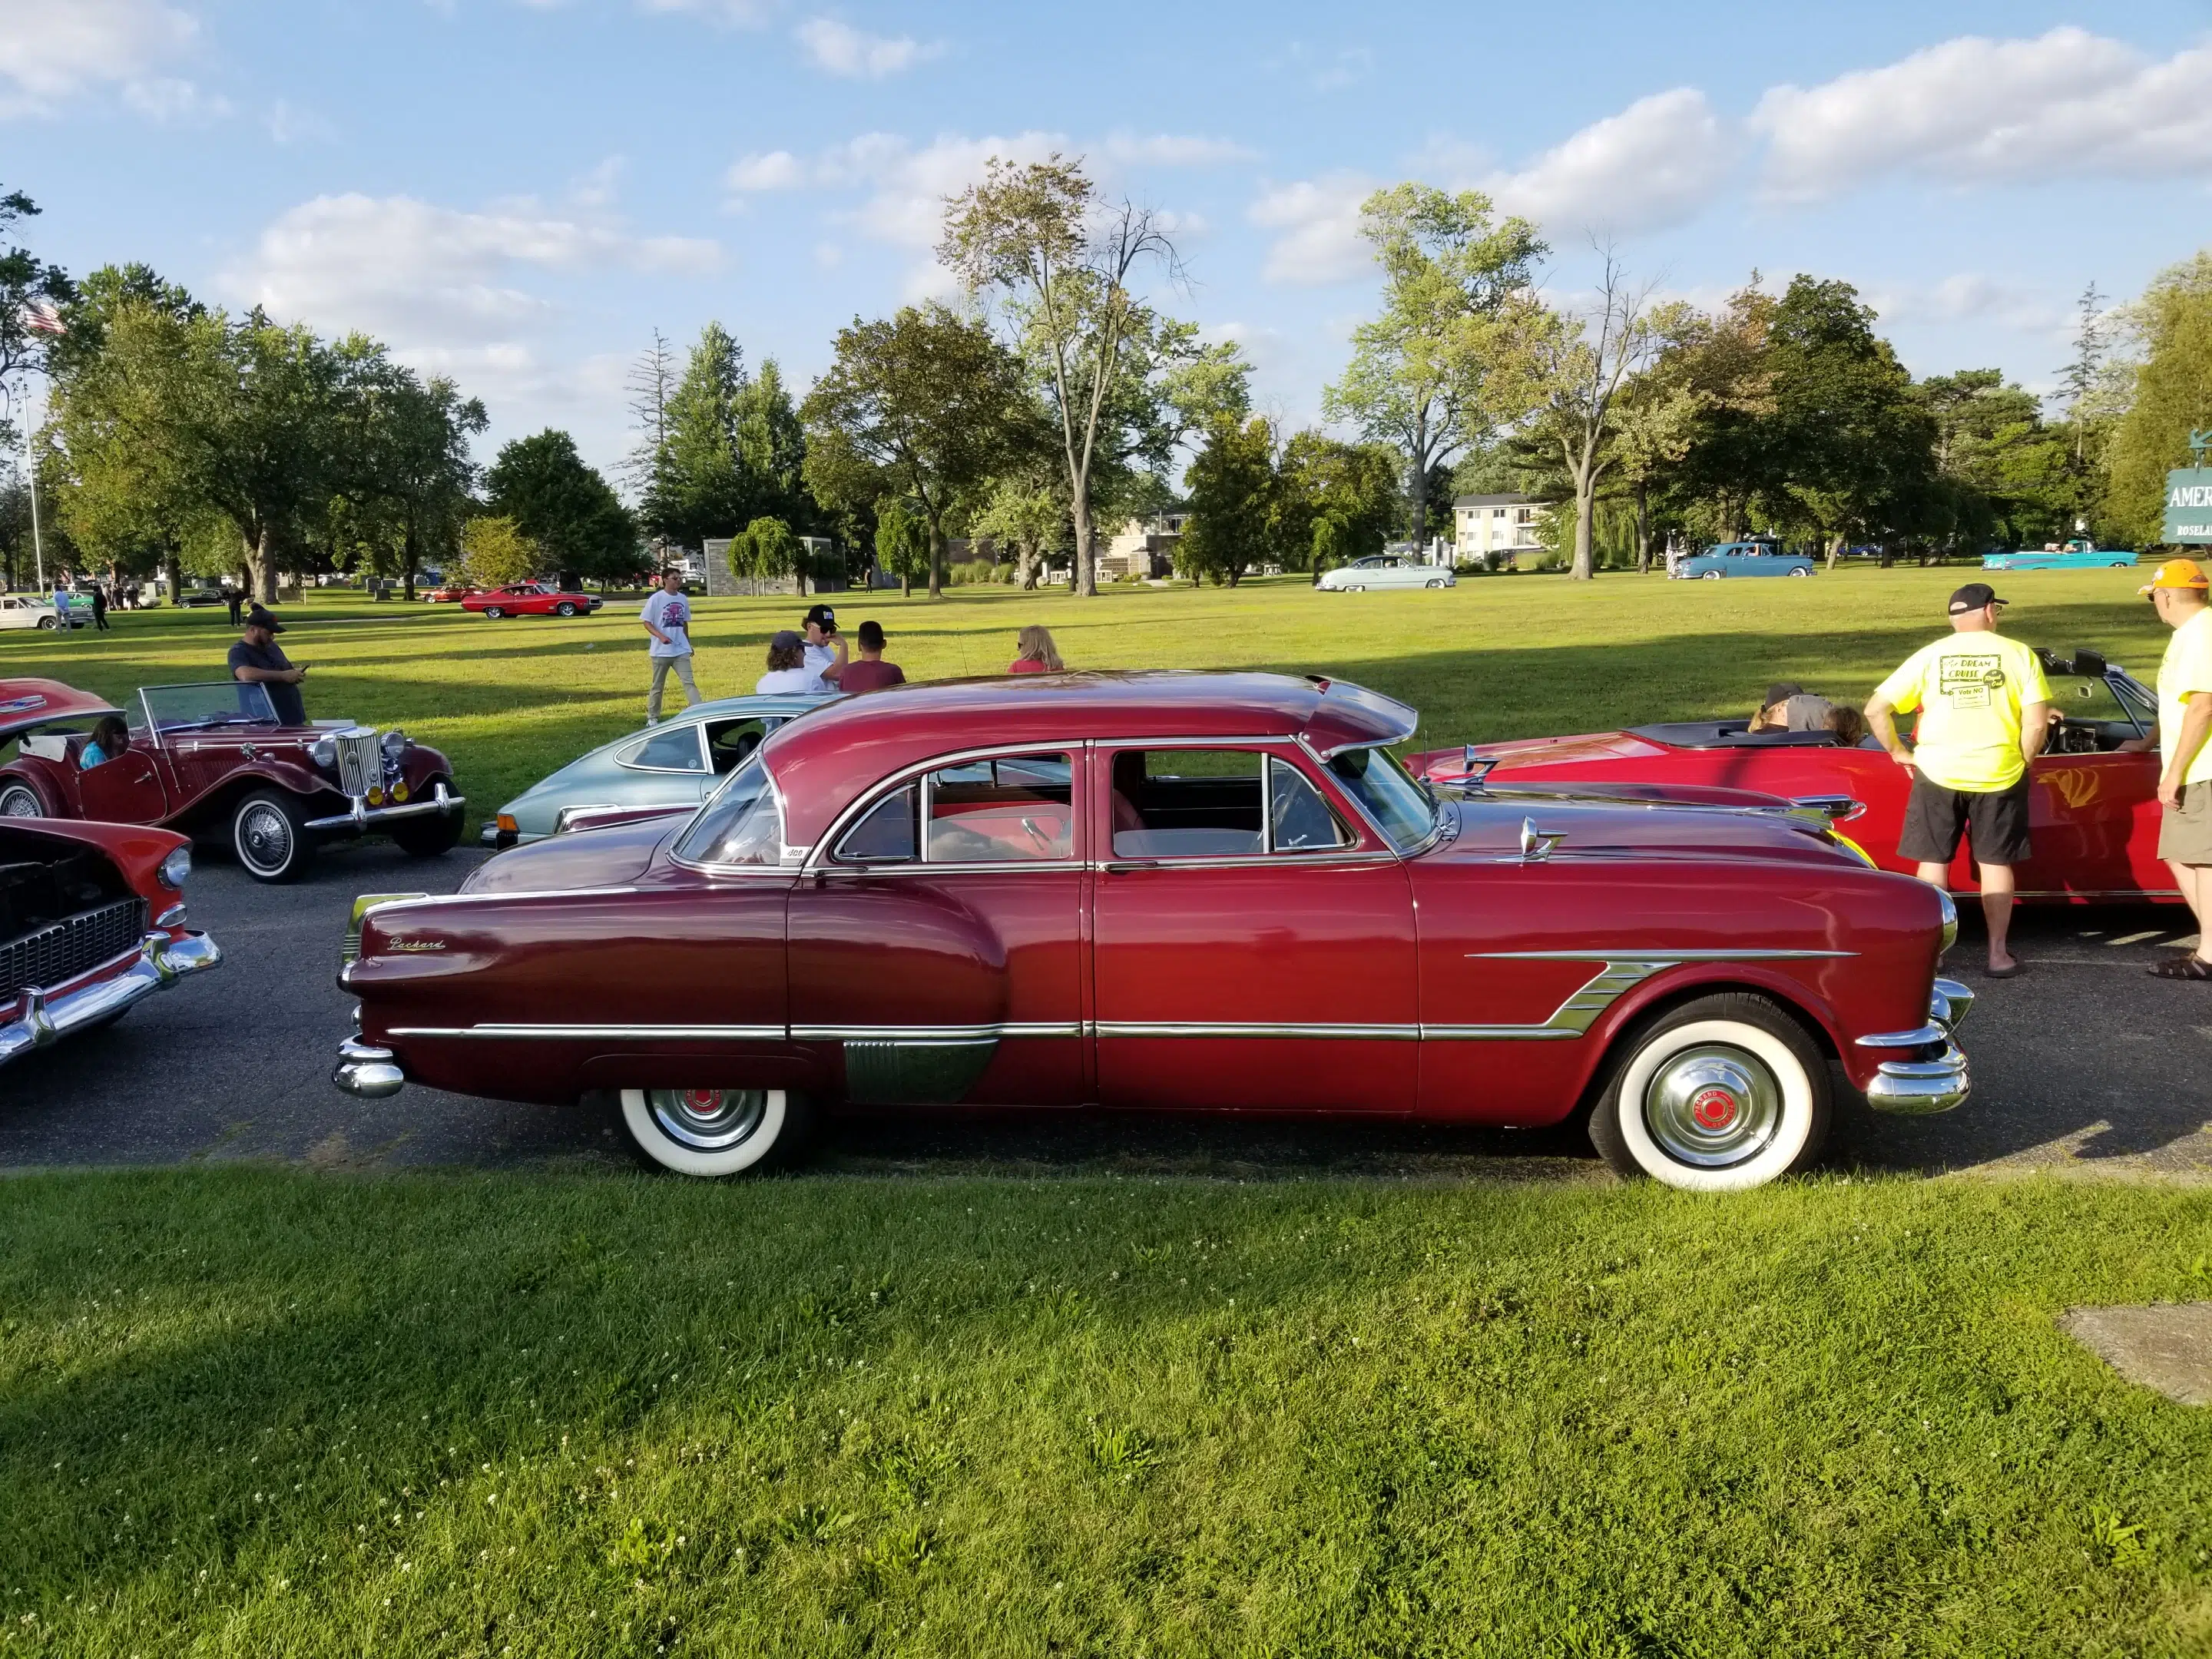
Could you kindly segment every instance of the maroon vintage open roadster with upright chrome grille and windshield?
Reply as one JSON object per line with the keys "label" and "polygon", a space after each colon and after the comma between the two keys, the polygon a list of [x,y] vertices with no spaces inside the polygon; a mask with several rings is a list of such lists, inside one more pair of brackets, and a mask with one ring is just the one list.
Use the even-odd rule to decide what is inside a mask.
{"label": "maroon vintage open roadster with upright chrome grille and windshield", "polygon": [[[80,757],[93,721],[128,726],[119,754]],[[128,712],[53,679],[0,679],[0,823],[97,818],[221,834],[254,880],[292,880],[323,841],[389,834],[436,858],[460,841],[453,768],[405,732],[281,726],[265,686],[144,686]]]}

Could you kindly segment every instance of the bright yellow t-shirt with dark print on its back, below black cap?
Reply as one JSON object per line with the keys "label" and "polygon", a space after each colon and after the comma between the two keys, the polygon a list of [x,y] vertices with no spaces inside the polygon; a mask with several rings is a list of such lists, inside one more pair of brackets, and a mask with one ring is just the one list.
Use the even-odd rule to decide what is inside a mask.
{"label": "bright yellow t-shirt with dark print on its back, below black cap", "polygon": [[2000,633],[1953,633],[1916,650],[1874,688],[1900,714],[1920,712],[1913,765],[1947,790],[1991,794],[2020,783],[2020,710],[2048,703],[2035,653]]}

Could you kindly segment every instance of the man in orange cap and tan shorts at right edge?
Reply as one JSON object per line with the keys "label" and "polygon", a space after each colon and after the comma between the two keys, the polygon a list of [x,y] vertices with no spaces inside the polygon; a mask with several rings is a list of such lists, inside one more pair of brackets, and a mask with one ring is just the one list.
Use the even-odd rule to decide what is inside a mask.
{"label": "man in orange cap and tan shorts at right edge", "polygon": [[2212,580],[2197,560],[2168,560],[2137,588],[2159,608],[2159,622],[2174,630],[2159,664],[2159,734],[2121,748],[2161,748],[2159,858],[2174,872],[2174,885],[2197,918],[2197,949],[2157,962],[2161,980],[2212,980],[2205,958],[2205,909],[2212,905]]}

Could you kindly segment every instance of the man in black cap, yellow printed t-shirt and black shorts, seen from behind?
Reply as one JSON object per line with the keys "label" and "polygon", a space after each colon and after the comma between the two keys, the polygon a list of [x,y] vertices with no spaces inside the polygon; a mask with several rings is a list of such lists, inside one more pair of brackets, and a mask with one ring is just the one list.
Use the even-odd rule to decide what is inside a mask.
{"label": "man in black cap, yellow printed t-shirt and black shorts, seen from behind", "polygon": [[[1989,922],[1989,978],[2020,962],[2004,949],[2013,925],[2013,865],[2028,856],[2028,761],[2051,732],[2051,686],[2035,653],[1997,633],[2006,602],[1986,582],[1951,595],[1951,637],[1922,646],[1874,688],[1867,726],[1898,765],[1911,768],[1898,856],[1920,880],[1947,887],[1960,832],[1969,836]],[[1916,748],[1891,714],[1920,710]]]}

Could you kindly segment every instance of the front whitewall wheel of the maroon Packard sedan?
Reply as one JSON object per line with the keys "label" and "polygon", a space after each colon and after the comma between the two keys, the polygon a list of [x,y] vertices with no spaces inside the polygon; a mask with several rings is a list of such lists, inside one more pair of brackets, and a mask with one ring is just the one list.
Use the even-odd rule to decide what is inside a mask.
{"label": "front whitewall wheel of the maroon Packard sedan", "polygon": [[1827,1141],[1827,1064],[1776,1004],[1728,991],[1637,1031],[1590,1115],[1617,1175],[1739,1192],[1803,1170]]}

